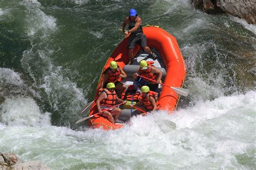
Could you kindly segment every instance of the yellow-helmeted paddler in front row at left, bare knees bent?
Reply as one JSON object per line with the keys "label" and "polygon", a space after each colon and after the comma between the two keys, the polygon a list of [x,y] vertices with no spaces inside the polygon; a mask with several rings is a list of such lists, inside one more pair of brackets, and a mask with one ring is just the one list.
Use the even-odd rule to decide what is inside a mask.
{"label": "yellow-helmeted paddler in front row at left, bare knees bent", "polygon": [[107,111],[102,111],[103,108],[109,108],[116,105],[116,101],[123,103],[126,101],[117,97],[114,83],[107,83],[106,89],[100,89],[99,98],[96,101],[99,115],[109,120],[111,123],[119,122],[118,117],[121,114],[121,110],[118,107],[114,107]]}

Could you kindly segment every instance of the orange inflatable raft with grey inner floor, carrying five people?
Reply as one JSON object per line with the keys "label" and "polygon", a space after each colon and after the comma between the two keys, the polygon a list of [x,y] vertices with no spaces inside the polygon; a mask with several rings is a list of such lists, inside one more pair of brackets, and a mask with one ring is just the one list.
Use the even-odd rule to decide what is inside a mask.
{"label": "orange inflatable raft with grey inner floor, carrying five people", "polygon": [[[157,55],[154,59],[144,52],[140,46],[136,45],[133,51],[135,56],[131,65],[126,65],[129,61],[128,49],[126,48],[128,37],[125,37],[122,42],[116,47],[112,55],[107,60],[102,75],[98,83],[103,80],[103,72],[109,67],[110,62],[116,61],[118,66],[121,67],[127,74],[127,78],[122,80],[126,85],[136,84],[137,82],[132,79],[133,73],[135,73],[139,67],[140,60],[153,61],[154,66],[163,72],[162,82],[165,85],[172,87],[182,87],[185,78],[185,65],[184,59],[181,55],[176,38],[170,33],[157,26],[146,26],[143,28],[143,32],[147,38],[147,45],[151,48],[151,51]],[[95,99],[98,97],[98,89]],[[176,109],[180,95],[173,91],[170,87],[162,86],[161,92],[158,97],[160,103],[160,110],[167,110],[172,112]],[[129,121],[132,115],[137,114],[137,110],[129,107],[129,105],[123,105],[120,107],[122,113],[119,116],[120,120]],[[93,104],[89,115],[98,113],[96,104]],[[121,128],[124,124],[112,124],[99,115],[93,116],[87,121],[88,125],[93,128],[103,128],[104,130],[115,130]]]}

